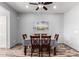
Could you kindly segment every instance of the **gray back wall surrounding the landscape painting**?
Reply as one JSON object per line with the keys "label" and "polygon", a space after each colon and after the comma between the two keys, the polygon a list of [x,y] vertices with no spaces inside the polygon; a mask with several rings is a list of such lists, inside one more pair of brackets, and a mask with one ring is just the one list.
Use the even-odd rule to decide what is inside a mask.
{"label": "gray back wall surrounding the landscape painting", "polygon": [[[31,34],[35,33],[33,31],[33,23],[37,20],[46,20],[49,22],[49,30],[46,33],[52,36],[55,33],[60,34],[59,42],[63,41],[63,14],[52,14],[52,13],[26,13],[20,14],[19,21],[19,39],[22,41],[21,35],[26,33],[28,38]],[[39,31],[38,31],[39,32]],[[38,33],[37,32],[37,33]]]}

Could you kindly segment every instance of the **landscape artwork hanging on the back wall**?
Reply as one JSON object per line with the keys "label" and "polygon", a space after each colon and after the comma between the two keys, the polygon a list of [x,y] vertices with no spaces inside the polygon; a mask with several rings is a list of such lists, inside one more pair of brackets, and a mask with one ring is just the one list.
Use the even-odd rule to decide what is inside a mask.
{"label": "landscape artwork hanging on the back wall", "polygon": [[33,30],[37,30],[37,31],[45,31],[49,29],[49,23],[48,21],[45,20],[39,20],[39,21],[35,21],[33,23]]}

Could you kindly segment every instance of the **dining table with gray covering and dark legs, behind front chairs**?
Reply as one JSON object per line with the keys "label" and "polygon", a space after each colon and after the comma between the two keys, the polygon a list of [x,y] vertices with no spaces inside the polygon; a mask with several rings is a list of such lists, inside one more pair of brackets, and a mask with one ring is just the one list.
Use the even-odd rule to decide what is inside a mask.
{"label": "dining table with gray covering and dark legs, behind front chairs", "polygon": [[[56,47],[58,45],[58,42],[56,40],[51,39],[51,44],[50,46],[53,46],[53,55],[56,55]],[[27,49],[29,46],[31,46],[31,40],[28,38],[26,40],[23,40],[23,46],[24,46],[24,55],[27,54]]]}

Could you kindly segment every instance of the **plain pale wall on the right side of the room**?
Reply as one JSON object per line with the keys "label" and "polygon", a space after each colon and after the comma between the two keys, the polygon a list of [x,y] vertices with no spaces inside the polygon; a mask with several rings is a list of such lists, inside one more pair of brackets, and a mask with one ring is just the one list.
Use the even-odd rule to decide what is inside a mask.
{"label": "plain pale wall on the right side of the room", "polygon": [[79,5],[64,13],[64,43],[79,51]]}

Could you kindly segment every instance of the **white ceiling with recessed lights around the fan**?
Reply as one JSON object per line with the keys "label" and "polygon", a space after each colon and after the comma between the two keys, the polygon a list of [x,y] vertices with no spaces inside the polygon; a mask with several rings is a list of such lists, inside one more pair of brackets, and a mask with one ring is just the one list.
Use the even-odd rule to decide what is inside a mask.
{"label": "white ceiling with recessed lights around the fan", "polygon": [[[10,5],[12,8],[14,8],[17,12],[21,12],[21,13],[26,13],[26,12],[64,13],[79,3],[78,2],[54,2],[57,8],[54,9],[53,4],[50,4],[46,6],[48,8],[47,11],[45,11],[42,8],[36,11],[35,9],[37,8],[37,6],[30,5],[29,2],[7,2],[7,4]],[[28,5],[29,8],[26,8],[26,5]]]}

